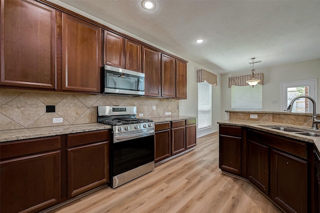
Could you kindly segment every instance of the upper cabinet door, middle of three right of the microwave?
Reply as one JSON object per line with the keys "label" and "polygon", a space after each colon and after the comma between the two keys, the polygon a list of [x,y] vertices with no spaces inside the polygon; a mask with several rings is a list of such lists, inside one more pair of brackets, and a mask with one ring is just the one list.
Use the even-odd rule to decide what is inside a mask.
{"label": "upper cabinet door, middle of three right of the microwave", "polygon": [[175,98],[175,58],[161,56],[161,96]]}

